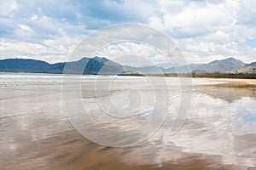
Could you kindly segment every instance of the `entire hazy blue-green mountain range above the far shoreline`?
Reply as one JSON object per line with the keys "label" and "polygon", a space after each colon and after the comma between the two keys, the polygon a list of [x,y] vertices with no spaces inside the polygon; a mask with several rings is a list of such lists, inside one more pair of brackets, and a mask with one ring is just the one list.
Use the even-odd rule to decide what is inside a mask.
{"label": "entire hazy blue-green mountain range above the far shoreline", "polygon": [[[163,68],[161,66],[144,66],[132,67],[129,65],[120,65],[107,58],[94,57],[79,59],[72,62],[63,62],[49,64],[42,60],[36,59],[1,59],[1,72],[32,72],[32,73],[62,73],[65,65],[66,72],[84,74],[120,74],[126,72],[139,72],[143,74],[158,74],[164,73],[187,73],[188,66],[190,71],[194,73],[202,72],[228,72],[228,73],[256,73],[256,62],[246,64],[239,59],[228,58],[221,60],[213,60],[207,64],[190,64],[183,66],[174,66]],[[85,68],[84,68],[85,66]]]}

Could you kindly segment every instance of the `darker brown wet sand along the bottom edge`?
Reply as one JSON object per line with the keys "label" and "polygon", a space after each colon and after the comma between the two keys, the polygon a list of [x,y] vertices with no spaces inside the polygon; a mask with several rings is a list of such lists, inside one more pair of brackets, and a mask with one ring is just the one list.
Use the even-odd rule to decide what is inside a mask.
{"label": "darker brown wet sand along the bottom edge", "polygon": [[[135,148],[111,148],[95,144],[84,139],[75,130],[60,132],[40,142],[20,141],[19,154],[1,161],[1,170],[33,170],[33,169],[55,169],[55,170],[227,170],[245,169],[233,165],[217,165],[220,161],[218,156],[191,155],[184,156],[174,163],[162,163],[161,165],[148,162],[142,165],[129,161],[129,150],[140,151],[140,145]],[[142,144],[143,145],[143,144]],[[150,149],[150,148],[148,148]],[[127,152],[128,150],[128,152]],[[175,150],[174,150],[175,151]],[[179,150],[177,150],[179,151]],[[128,157],[127,157],[128,156]],[[125,157],[125,160],[124,160]],[[137,157],[140,159],[140,157]],[[147,159],[145,156],[144,159]],[[212,166],[214,165],[214,166]]]}

